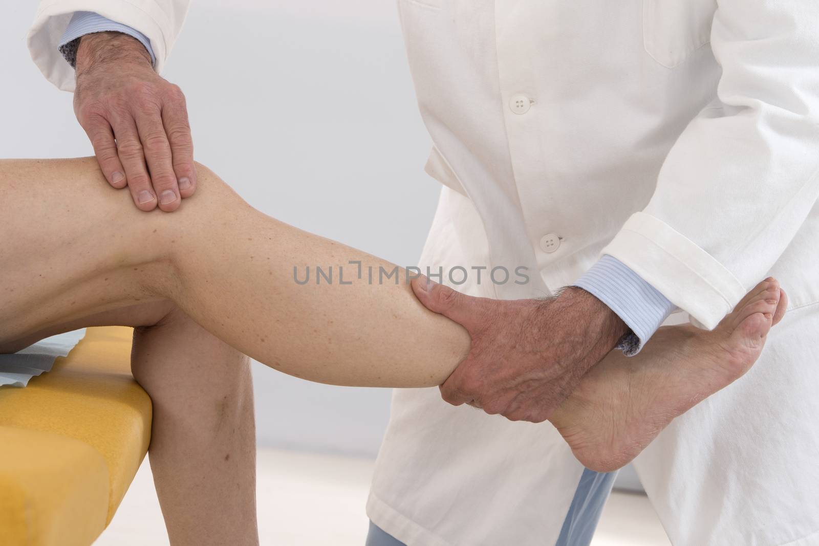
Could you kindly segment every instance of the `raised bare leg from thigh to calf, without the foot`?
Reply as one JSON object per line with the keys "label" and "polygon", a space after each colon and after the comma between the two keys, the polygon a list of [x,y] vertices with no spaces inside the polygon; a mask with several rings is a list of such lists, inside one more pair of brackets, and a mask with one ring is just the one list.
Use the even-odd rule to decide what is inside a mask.
{"label": "raised bare leg from thigh to calf, without the foot", "polygon": [[[271,219],[198,174],[180,210],[144,213],[93,158],[0,162],[0,336],[173,300],[229,345],[312,381],[434,386],[468,352],[464,329],[423,308],[404,278],[378,283],[392,264]],[[336,268],[332,284],[296,283],[294,267],[316,265]]]}

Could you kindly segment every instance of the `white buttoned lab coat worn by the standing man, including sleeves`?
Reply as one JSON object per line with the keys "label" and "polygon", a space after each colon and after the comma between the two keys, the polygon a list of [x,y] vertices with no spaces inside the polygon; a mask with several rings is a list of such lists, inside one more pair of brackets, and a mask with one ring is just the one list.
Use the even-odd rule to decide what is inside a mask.
{"label": "white buttoned lab coat worn by the standing man, including sleeves", "polygon": [[[70,90],[57,38],[97,11],[146,34],[161,70],[187,7],[44,0],[29,47]],[[421,265],[536,272],[459,286],[509,299],[606,253],[709,328],[775,275],[791,310],[762,358],[636,467],[674,544],[819,544],[816,0],[398,7],[445,186]],[[552,544],[580,474],[548,423],[396,391],[368,513],[412,545]]]}

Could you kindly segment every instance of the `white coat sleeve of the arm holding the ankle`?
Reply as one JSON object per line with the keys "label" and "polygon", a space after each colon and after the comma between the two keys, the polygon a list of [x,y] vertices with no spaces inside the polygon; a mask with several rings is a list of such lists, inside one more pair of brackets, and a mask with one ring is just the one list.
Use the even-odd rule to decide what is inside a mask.
{"label": "white coat sleeve of the arm holding the ankle", "polygon": [[718,101],[601,253],[709,329],[764,278],[819,197],[819,3],[717,0],[711,46]]}

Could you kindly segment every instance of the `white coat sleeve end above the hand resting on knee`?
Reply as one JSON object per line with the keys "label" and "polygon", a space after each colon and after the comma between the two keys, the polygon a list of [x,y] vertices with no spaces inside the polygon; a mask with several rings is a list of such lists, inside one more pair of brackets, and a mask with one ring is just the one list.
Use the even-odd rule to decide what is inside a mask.
{"label": "white coat sleeve end above the hand resting on knee", "polygon": [[63,31],[75,11],[93,11],[145,34],[161,72],[174,47],[190,0],[41,0],[27,37],[34,64],[64,91],[74,91],[74,69],[57,50]]}

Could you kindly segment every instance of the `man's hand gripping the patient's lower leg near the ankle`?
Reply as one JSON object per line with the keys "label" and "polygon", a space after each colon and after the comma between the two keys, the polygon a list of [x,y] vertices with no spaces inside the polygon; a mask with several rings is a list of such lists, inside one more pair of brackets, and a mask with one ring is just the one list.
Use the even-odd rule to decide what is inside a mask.
{"label": "man's hand gripping the patient's lower leg near the ankle", "polygon": [[617,314],[581,288],[543,300],[491,300],[423,276],[412,287],[424,306],[472,337],[467,358],[441,385],[443,399],[512,421],[548,419],[628,331]]}

